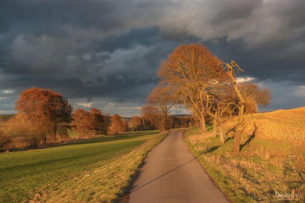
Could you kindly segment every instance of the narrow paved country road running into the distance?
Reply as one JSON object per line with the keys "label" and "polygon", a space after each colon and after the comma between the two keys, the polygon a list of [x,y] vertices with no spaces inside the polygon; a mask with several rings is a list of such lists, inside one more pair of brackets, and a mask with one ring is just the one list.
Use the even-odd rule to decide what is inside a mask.
{"label": "narrow paved country road running into the distance", "polygon": [[130,203],[229,202],[188,151],[183,130],[172,130],[145,160]]}

